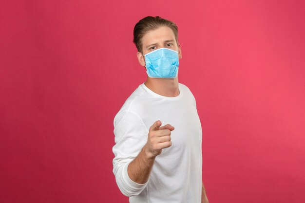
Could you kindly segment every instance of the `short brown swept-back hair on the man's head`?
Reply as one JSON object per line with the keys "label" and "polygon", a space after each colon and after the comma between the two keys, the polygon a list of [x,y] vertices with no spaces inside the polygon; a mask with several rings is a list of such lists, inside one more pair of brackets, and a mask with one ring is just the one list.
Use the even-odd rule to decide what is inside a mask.
{"label": "short brown swept-back hair on the man's head", "polygon": [[167,26],[172,29],[176,42],[178,43],[178,27],[170,20],[161,18],[159,16],[148,16],[138,21],[133,28],[133,43],[138,52],[142,52],[142,37],[148,31],[155,30],[161,26]]}

